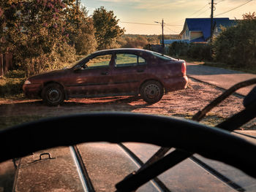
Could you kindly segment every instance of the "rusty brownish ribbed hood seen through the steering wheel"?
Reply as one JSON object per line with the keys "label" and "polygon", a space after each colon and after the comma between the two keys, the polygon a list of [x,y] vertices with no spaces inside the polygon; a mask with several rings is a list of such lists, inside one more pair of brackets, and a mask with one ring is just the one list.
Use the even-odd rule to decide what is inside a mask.
{"label": "rusty brownish ribbed hood seen through the steering wheel", "polygon": [[[133,142],[99,142],[41,150],[20,160],[14,191],[83,191],[88,183],[95,191],[115,191],[116,183],[139,169],[158,149],[156,145]],[[79,166],[79,161],[84,167]],[[82,169],[89,180],[80,177]],[[254,191],[255,183],[254,178],[232,166],[193,155],[138,191]]]}

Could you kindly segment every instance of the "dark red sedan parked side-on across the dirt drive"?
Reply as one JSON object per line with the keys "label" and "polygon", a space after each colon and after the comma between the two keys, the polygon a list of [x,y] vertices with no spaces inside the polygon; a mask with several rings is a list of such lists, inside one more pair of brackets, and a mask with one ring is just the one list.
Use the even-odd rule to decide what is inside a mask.
{"label": "dark red sedan parked side-on across the dirt drive", "polygon": [[164,93],[187,88],[186,63],[149,50],[100,50],[70,69],[37,74],[23,85],[28,97],[48,105],[69,98],[138,95],[153,104]]}

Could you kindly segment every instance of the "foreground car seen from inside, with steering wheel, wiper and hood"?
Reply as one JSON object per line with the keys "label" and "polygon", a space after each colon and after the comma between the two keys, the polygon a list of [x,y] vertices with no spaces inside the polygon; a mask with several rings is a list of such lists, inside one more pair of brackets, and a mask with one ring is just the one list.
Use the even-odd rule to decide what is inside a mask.
{"label": "foreground car seen from inside, with steering wheel, wiper and hood", "polygon": [[[238,88],[254,83],[256,79],[234,85],[193,120],[200,121]],[[256,117],[255,96],[256,88],[244,98],[244,110],[217,127],[124,112],[25,123],[0,131],[0,162],[13,159],[13,191],[253,192],[256,134],[230,131]]]}

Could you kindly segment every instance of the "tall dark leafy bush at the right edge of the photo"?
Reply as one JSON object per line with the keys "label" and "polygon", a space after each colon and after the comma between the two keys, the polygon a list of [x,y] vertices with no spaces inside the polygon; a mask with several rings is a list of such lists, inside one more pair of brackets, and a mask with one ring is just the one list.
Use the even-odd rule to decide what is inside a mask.
{"label": "tall dark leafy bush at the right edge of the photo", "polygon": [[214,39],[214,59],[239,68],[256,69],[256,15],[244,14],[237,26]]}

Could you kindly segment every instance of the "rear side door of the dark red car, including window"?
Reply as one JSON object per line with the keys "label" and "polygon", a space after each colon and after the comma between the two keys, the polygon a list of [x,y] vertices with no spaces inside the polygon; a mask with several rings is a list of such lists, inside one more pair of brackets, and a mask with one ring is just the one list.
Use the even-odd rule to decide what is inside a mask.
{"label": "rear side door of the dark red car, including window", "polygon": [[140,82],[146,77],[146,60],[133,53],[114,55],[113,86],[121,93],[138,93]]}

